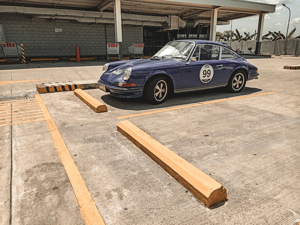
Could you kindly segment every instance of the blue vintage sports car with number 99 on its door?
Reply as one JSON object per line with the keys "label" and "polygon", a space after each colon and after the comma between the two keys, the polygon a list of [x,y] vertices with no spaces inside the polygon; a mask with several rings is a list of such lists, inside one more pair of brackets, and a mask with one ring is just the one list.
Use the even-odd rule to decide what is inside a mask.
{"label": "blue vintage sports car with number 99 on its door", "polygon": [[226,87],[238,93],[258,75],[257,67],[224,44],[180,40],[169,42],[151,58],[104,64],[98,83],[115,97],[144,96],[161,104],[172,92]]}

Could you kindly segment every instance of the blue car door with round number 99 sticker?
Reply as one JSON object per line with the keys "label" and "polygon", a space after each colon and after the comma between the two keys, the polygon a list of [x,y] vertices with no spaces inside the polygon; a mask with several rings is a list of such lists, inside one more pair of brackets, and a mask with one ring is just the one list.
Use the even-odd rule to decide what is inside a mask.
{"label": "blue car door with round number 99 sticker", "polygon": [[199,44],[196,46],[189,63],[182,64],[181,89],[197,89],[216,85],[223,65],[219,60],[220,46]]}

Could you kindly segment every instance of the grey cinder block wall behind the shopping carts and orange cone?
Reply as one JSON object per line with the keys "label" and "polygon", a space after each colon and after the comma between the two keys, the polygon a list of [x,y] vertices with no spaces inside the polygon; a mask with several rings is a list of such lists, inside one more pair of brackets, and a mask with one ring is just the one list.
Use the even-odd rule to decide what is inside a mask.
{"label": "grey cinder block wall behind the shopping carts and orange cone", "polygon": [[[107,57],[106,42],[115,42],[113,24],[83,24],[68,21],[38,20],[31,16],[0,13],[6,42],[23,43],[28,57],[75,57],[79,46],[80,56]],[[24,27],[23,27],[24,24]],[[55,32],[55,29],[62,32]],[[143,27],[122,25],[123,55],[129,55],[128,46],[143,43]],[[2,49],[0,50],[3,57]]]}

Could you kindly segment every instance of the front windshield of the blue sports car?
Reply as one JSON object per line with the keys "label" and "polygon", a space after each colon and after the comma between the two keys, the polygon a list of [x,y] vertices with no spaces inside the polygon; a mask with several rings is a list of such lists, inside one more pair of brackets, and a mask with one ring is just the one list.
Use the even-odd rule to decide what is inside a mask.
{"label": "front windshield of the blue sports car", "polygon": [[176,58],[186,60],[193,49],[194,43],[187,41],[175,41],[166,44],[152,58]]}

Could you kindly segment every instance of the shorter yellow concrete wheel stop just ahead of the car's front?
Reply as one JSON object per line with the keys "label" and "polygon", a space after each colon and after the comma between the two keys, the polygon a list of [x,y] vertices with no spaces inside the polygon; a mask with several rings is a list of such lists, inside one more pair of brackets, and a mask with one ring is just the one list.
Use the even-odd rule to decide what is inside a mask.
{"label": "shorter yellow concrete wheel stop just ahead of the car's front", "polygon": [[96,113],[107,112],[107,107],[102,102],[98,101],[82,89],[75,89],[74,95],[76,95],[81,101],[87,104]]}

